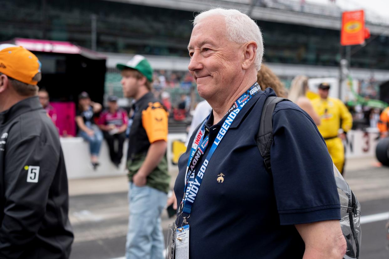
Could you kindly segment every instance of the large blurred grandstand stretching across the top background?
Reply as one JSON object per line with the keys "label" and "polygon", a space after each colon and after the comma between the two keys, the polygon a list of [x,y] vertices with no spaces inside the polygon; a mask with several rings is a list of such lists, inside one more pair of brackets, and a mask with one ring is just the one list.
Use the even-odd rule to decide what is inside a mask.
{"label": "large blurred grandstand stretching across the top background", "polygon": [[[197,12],[217,6],[240,9],[256,19],[263,31],[264,61],[286,85],[296,74],[338,76],[342,9],[308,0],[2,0],[0,41],[37,38],[92,48],[96,19],[96,50],[107,57],[106,92],[119,94],[115,64],[134,54],[147,56],[157,72],[187,71],[190,21]],[[389,80],[388,25],[387,19],[366,10],[371,38],[363,48],[351,48],[354,78],[377,84]],[[176,86],[181,88],[182,82]]]}

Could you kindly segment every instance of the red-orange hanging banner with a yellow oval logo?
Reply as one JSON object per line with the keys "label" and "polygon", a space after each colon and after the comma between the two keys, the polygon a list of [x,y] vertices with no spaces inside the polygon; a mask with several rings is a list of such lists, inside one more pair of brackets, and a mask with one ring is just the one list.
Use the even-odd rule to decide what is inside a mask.
{"label": "red-orange hanging banner with a yellow oval logo", "polygon": [[359,45],[365,40],[364,11],[343,12],[340,44]]}

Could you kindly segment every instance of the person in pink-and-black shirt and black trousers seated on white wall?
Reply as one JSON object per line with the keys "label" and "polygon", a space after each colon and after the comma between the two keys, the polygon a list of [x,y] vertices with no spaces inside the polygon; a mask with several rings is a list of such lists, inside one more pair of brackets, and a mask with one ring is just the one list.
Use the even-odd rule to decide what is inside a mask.
{"label": "person in pink-and-black shirt and black trousers seated on white wall", "polygon": [[[116,167],[119,167],[123,157],[123,143],[126,139],[128,116],[127,112],[117,105],[116,96],[108,97],[108,109],[101,113],[98,124],[103,131],[104,138],[107,140],[111,161]],[[115,149],[115,146],[117,146],[117,149]]]}

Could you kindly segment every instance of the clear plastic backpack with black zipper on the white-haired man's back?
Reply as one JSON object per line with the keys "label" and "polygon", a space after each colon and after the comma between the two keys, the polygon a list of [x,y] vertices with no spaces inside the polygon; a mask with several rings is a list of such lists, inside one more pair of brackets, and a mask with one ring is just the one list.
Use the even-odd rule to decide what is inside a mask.
{"label": "clear plastic backpack with black zipper on the white-haired man's back", "polygon": [[340,200],[340,227],[347,243],[347,252],[343,259],[357,259],[359,258],[362,238],[361,204],[335,165],[333,167]]}

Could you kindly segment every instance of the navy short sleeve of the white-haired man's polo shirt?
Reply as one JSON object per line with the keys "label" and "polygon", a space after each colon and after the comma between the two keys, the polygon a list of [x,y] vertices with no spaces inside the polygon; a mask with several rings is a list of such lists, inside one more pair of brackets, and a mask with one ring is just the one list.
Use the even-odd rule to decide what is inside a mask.
{"label": "navy short sleeve of the white-haired man's polo shirt", "polygon": [[324,139],[293,103],[277,105],[270,155],[281,225],[340,219],[333,163]]}

